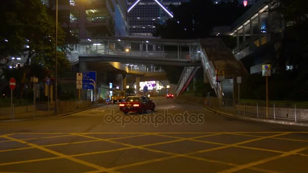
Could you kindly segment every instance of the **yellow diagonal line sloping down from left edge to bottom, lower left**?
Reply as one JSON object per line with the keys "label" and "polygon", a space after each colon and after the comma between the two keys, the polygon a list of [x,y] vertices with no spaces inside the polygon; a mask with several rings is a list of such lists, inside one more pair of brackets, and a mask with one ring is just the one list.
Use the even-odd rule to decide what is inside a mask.
{"label": "yellow diagonal line sloping down from left edge to bottom, lower left", "polygon": [[98,165],[96,165],[96,164],[89,163],[89,162],[86,162],[86,161],[84,161],[84,160],[80,160],[80,159],[77,159],[77,158],[74,158],[74,157],[71,157],[71,156],[68,156],[68,155],[65,155],[65,154],[62,154],[62,153],[59,153],[59,152],[56,152],[56,151],[47,149],[47,148],[44,148],[44,147],[39,146],[39,145],[36,145],[36,144],[28,143],[28,142],[26,142],[26,141],[22,141],[22,140],[19,140],[19,139],[15,139],[15,138],[12,138],[12,137],[8,137],[8,136],[5,136],[4,138],[7,138],[7,139],[10,139],[10,140],[19,142],[19,143],[21,143],[21,144],[29,145],[29,146],[34,147],[34,148],[36,148],[36,149],[39,149],[39,150],[42,150],[42,151],[45,151],[45,152],[54,154],[54,155],[59,156],[59,157],[66,158],[66,159],[68,159],[68,160],[70,160],[70,161],[74,161],[74,162],[77,162],[77,163],[80,163],[80,164],[83,164],[83,165],[86,165],[86,166],[89,166],[89,167],[93,167],[93,168],[98,169],[98,170],[101,170],[101,171],[105,171],[105,170],[106,170],[105,167],[98,166]]}

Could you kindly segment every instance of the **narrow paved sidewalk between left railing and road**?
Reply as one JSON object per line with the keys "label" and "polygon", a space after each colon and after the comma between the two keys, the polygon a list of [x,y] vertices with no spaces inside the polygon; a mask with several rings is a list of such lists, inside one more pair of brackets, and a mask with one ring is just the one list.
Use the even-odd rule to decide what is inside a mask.
{"label": "narrow paved sidewalk between left railing and road", "polygon": [[9,119],[9,118],[1,119],[1,117],[0,117],[0,122],[32,121],[32,120],[59,118],[59,117],[67,116],[69,114],[82,112],[82,111],[85,111],[85,110],[88,110],[88,109],[100,107],[100,106],[103,106],[103,105],[106,105],[106,104],[105,103],[99,103],[99,104],[92,105],[90,107],[83,108],[83,109],[72,110],[72,111],[67,111],[67,112],[58,113],[58,114],[51,113],[50,115],[48,115],[48,111],[35,111],[35,113],[36,113],[35,117],[33,117],[32,112],[24,112],[24,113],[19,113],[18,115],[16,115],[15,119]]}

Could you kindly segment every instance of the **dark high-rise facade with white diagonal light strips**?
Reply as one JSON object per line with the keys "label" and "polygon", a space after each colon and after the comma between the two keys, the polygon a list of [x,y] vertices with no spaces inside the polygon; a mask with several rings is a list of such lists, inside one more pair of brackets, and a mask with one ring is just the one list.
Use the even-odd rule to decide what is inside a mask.
{"label": "dark high-rise facade with white diagonal light strips", "polygon": [[180,5],[190,0],[128,0],[129,35],[152,36],[156,24],[173,17],[170,5]]}

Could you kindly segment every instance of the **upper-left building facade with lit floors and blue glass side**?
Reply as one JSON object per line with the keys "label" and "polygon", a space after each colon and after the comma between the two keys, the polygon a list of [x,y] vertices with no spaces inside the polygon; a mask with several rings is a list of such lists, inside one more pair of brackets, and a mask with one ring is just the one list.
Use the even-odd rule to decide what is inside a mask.
{"label": "upper-left building facade with lit floors and blue glass side", "polygon": [[[56,0],[41,0],[55,10]],[[127,36],[127,1],[58,0],[58,20],[80,38]]]}

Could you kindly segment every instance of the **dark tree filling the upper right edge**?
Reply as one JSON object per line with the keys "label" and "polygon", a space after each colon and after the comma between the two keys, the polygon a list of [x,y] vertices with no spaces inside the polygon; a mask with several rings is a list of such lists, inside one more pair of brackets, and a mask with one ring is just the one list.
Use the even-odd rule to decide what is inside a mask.
{"label": "dark tree filling the upper right edge", "polygon": [[288,78],[284,84],[292,96],[308,97],[308,16],[307,1],[271,0],[272,11],[283,15],[286,23],[283,40],[277,43],[272,61],[276,72]]}

